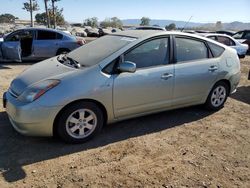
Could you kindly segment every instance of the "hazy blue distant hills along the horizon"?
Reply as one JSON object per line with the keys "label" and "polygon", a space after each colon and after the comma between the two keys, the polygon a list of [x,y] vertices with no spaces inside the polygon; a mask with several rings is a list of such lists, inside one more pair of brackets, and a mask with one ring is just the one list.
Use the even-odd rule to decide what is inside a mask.
{"label": "hazy blue distant hills along the horizon", "polygon": [[[138,26],[141,23],[140,19],[125,19],[122,20],[123,25],[134,25]],[[150,25],[159,25],[160,27],[165,27],[171,23],[175,23],[177,28],[183,28],[186,24],[186,21],[175,21],[175,20],[151,20]],[[223,23],[223,29],[225,30],[243,30],[250,29],[250,23],[243,22],[231,22],[231,23]],[[187,28],[214,28],[215,23],[198,23],[198,22],[189,22],[186,26]]]}

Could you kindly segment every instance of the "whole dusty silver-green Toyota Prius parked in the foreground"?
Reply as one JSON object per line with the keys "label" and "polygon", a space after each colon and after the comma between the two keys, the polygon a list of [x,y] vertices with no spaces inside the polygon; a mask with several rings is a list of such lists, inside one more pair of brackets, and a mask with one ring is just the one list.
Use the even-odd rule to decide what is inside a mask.
{"label": "whole dusty silver-green Toyota Prius parked in the foreground", "polygon": [[130,30],[31,66],[3,103],[19,133],[81,143],[105,123],[198,104],[219,110],[239,81],[230,47],[181,32]]}

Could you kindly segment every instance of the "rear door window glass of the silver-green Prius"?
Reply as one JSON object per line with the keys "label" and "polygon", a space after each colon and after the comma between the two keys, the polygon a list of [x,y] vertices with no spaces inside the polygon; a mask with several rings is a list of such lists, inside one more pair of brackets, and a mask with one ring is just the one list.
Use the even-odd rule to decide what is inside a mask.
{"label": "rear door window glass of the silver-green Prius", "polygon": [[177,62],[206,58],[208,58],[208,49],[204,42],[186,38],[176,38]]}

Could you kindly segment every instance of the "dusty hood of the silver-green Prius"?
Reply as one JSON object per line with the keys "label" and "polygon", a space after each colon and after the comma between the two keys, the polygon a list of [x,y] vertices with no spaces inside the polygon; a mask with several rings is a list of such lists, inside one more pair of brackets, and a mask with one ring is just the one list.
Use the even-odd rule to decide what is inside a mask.
{"label": "dusty hood of the silver-green Prius", "polygon": [[76,71],[71,67],[67,67],[57,61],[57,57],[37,63],[26,69],[17,76],[10,85],[10,90],[13,94],[19,96],[24,90],[39,81],[46,79],[58,79],[65,74]]}

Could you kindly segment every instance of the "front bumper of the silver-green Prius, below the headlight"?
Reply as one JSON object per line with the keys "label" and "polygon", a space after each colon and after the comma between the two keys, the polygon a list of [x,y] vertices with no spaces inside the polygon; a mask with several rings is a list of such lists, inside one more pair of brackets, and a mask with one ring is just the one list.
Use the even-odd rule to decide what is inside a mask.
{"label": "front bumper of the silver-green Prius, below the headlight", "polygon": [[28,136],[53,135],[54,119],[61,107],[43,107],[37,101],[24,104],[9,92],[3,98],[9,120],[17,132]]}

